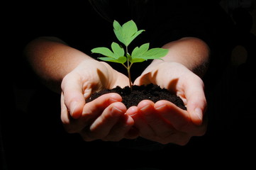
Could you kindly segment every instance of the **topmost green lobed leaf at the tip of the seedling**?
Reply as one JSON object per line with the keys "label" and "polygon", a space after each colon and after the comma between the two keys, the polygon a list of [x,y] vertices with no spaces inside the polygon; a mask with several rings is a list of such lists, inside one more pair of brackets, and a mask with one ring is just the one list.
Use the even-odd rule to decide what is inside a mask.
{"label": "topmost green lobed leaf at the tip of the seedling", "polygon": [[127,47],[144,30],[138,31],[135,22],[131,20],[124,23],[123,26],[118,21],[113,21],[113,31],[116,34],[116,38]]}

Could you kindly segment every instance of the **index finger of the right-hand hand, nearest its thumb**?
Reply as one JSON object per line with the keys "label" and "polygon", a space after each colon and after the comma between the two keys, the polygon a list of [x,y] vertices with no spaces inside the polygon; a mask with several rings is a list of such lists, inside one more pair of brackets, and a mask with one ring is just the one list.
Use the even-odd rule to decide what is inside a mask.
{"label": "index finger of the right-hand hand, nearest its thumb", "polygon": [[155,111],[165,118],[174,129],[187,132],[187,126],[191,123],[191,118],[187,111],[174,105],[169,101],[157,101]]}

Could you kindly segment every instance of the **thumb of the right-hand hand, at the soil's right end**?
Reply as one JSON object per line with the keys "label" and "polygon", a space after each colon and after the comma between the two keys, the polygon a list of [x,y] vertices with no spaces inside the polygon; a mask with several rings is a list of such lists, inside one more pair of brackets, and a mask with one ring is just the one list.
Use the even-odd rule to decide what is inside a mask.
{"label": "thumb of the right-hand hand, at the soil's right end", "polygon": [[191,81],[191,84],[189,86],[187,85],[186,89],[187,111],[189,112],[191,121],[195,125],[201,125],[207,107],[206,97],[204,95],[204,83],[201,79]]}

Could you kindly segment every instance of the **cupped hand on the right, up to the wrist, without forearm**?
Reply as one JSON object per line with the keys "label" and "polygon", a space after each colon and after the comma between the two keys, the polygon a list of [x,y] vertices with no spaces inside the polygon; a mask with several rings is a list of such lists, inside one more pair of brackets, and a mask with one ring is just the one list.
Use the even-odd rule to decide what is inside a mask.
{"label": "cupped hand on the right, up to the wrist, without forearm", "polygon": [[182,64],[162,62],[135,80],[135,84],[157,84],[182,98],[187,111],[169,101],[141,101],[128,109],[140,136],[163,144],[185,145],[192,136],[204,135],[206,98],[203,81]]}

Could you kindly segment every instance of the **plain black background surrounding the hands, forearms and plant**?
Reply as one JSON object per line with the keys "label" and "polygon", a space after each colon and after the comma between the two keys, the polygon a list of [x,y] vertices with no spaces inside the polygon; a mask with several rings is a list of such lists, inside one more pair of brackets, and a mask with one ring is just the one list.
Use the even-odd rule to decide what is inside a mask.
{"label": "plain black background surrounding the hands, forearms and plant", "polygon": [[[189,11],[196,11],[193,10],[196,8],[194,1],[189,2]],[[100,16],[83,17],[94,13],[83,10],[83,5],[87,4],[85,1],[9,1],[1,6],[6,9],[1,11],[1,37],[4,38],[4,45],[1,45],[1,163],[4,169],[92,169],[91,166],[98,169],[170,169],[174,165],[201,166],[203,162],[210,163],[206,168],[221,162],[228,166],[252,163],[255,159],[256,118],[252,68],[256,40],[247,29],[252,26],[250,15],[247,15],[252,9],[231,11],[233,15],[230,15],[221,7],[211,6],[206,10],[211,13],[208,15],[211,18],[205,20],[206,16],[201,16],[204,23],[198,22],[198,28],[205,28],[193,33],[185,28],[179,33],[175,32],[179,27],[173,29],[175,31],[169,35],[173,40],[194,34],[211,46],[214,58],[204,79],[208,131],[203,137],[192,137],[183,147],[167,145],[163,150],[141,151],[117,147],[113,142],[84,142],[77,134],[67,134],[60,121],[60,95],[40,84],[22,57],[26,43],[43,35],[59,36],[84,52],[89,52],[95,45],[110,45],[114,40],[111,23]],[[182,1],[178,4],[182,8]],[[191,26],[195,26],[196,23],[190,21],[192,13],[186,15]],[[182,16],[184,13],[177,18]],[[96,36],[93,34],[95,30]],[[148,34],[143,38],[148,38]],[[230,56],[236,45],[245,47],[247,60],[234,66]],[[136,70],[140,72],[140,68]]]}

